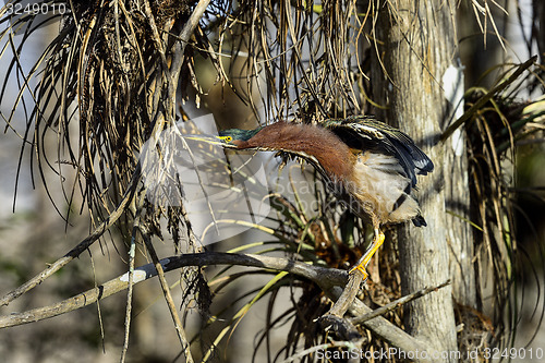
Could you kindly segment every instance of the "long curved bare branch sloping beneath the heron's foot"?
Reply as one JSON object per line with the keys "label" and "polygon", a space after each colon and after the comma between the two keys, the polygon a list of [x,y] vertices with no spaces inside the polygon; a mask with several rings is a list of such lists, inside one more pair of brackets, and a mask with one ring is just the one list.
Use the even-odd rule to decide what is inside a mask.
{"label": "long curved bare branch sloping beneath the heron's foot", "polygon": [[[184,254],[182,256],[164,258],[160,261],[160,265],[162,266],[162,270],[165,273],[187,266],[203,267],[210,265],[238,265],[259,267],[277,271],[287,271],[317,283],[335,301],[338,300],[338,298],[342,294],[342,291],[344,289],[342,289],[341,286],[344,286],[348,280],[348,273],[344,270],[313,266],[288,258],[254,254],[231,254],[218,252]],[[133,282],[136,285],[154,278],[155,276],[157,276],[155,264],[147,264],[135,268],[133,273]],[[111,279],[97,288],[87,290],[59,303],[29,310],[23,313],[13,313],[10,315],[0,316],[0,328],[8,328],[12,326],[39,322],[46,318],[62,315],[74,310],[90,305],[99,300],[108,298],[128,288],[129,273]],[[419,294],[422,295],[422,291],[416,292],[413,299],[416,299],[416,295]],[[349,313],[353,316],[365,316],[366,314],[373,313],[373,311],[359,299],[355,299],[349,307]],[[401,350],[428,351],[428,344],[411,337],[380,316],[367,319],[365,322],[359,322],[358,319],[354,319],[354,322],[356,322],[358,324],[363,324],[378,337]]]}

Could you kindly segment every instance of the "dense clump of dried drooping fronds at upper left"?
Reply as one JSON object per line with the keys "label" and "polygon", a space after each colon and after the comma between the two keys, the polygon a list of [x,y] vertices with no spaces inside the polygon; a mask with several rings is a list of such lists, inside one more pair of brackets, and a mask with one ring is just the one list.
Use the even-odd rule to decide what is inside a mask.
{"label": "dense clump of dried drooping fronds at upper left", "polygon": [[[11,5],[19,4],[14,1]],[[179,32],[186,23],[191,3],[116,1],[111,8],[105,1],[38,4],[49,7],[55,15],[43,21],[32,13],[2,19],[11,22],[2,37],[9,38],[5,47],[11,45],[12,51],[0,95],[2,104],[10,101],[5,87],[12,78],[22,85],[21,97],[4,119],[11,125],[17,107],[24,108],[28,122],[23,148],[35,148],[32,155],[37,157],[39,174],[44,178],[46,169],[52,169],[62,181],[65,168],[74,169],[76,179],[64,186],[63,202],[71,206],[77,191],[99,223],[131,187],[134,192],[142,145],[154,132],[174,122],[174,84],[180,70],[168,69],[166,52],[180,47],[169,41],[169,32]],[[156,15],[147,17],[149,12]],[[59,17],[59,35],[31,71],[24,72],[25,40]],[[23,35],[16,48],[14,34]],[[169,48],[162,48],[164,41]],[[182,61],[179,68],[191,61],[183,53],[170,60],[177,59]],[[36,86],[31,89],[35,78]],[[43,146],[50,133],[57,135],[56,155]]]}

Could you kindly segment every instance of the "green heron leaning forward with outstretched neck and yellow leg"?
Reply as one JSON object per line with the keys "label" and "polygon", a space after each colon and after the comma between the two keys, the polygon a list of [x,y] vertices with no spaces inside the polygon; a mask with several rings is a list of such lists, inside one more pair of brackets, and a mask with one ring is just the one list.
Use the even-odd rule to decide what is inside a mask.
{"label": "green heron leaning forward with outstretched neck and yellow leg", "polygon": [[370,247],[350,270],[361,270],[364,279],[365,267],[384,243],[382,225],[412,220],[426,226],[412,191],[416,174],[431,172],[434,165],[411,137],[373,117],[231,129],[221,131],[219,140],[229,148],[284,152],[313,165],[337,197],[373,226]]}

